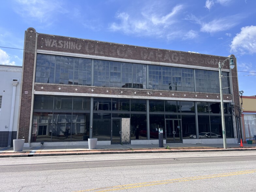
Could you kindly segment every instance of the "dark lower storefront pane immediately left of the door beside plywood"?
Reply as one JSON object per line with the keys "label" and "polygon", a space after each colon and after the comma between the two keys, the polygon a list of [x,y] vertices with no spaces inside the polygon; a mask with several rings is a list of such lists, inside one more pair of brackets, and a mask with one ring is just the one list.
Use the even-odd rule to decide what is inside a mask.
{"label": "dark lower storefront pane immediately left of the door beside plywood", "polygon": [[111,114],[94,113],[92,137],[98,138],[98,141],[110,141],[111,133]]}

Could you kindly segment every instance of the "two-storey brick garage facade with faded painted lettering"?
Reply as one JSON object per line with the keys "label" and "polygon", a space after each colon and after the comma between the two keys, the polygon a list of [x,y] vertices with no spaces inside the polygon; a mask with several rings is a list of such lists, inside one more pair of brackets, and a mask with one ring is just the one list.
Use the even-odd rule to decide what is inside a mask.
{"label": "two-storey brick garage facade with faded painted lettering", "polygon": [[[67,141],[87,142],[87,138],[91,137],[98,137],[98,141],[104,144],[114,144],[112,139],[115,137],[113,130],[116,129],[114,128],[116,122],[113,120],[126,117],[131,118],[131,144],[158,142],[152,130],[161,126],[165,131],[164,142],[221,143],[223,140],[220,139],[222,137],[220,110],[214,112],[213,107],[216,104],[220,106],[218,79],[215,78],[216,74],[218,76],[218,62],[226,58],[40,34],[34,28],[28,28],[24,39],[18,138],[24,138],[25,145],[30,146],[39,145],[40,141],[48,141],[48,145],[54,143],[53,141],[68,145]],[[236,65],[236,59],[234,63]],[[79,66],[77,70],[76,64]],[[60,72],[57,72],[58,65]],[[102,71],[103,66],[105,71]],[[125,66],[131,67],[125,68]],[[155,75],[156,68],[158,75]],[[125,72],[125,69],[132,70],[131,74]],[[139,71],[137,74],[136,70]],[[171,71],[171,77],[164,75],[168,70]],[[187,72],[189,70],[192,71]],[[231,108],[232,104],[239,105],[237,69],[235,66],[230,70],[226,61],[222,72],[229,74],[225,78],[230,87],[223,92],[225,118],[231,122],[228,125],[231,127],[228,127],[230,135],[227,137],[227,142],[235,143],[237,142],[236,123]],[[80,73],[83,74],[81,79],[76,77]],[[122,80],[125,79],[125,75],[131,75],[127,77],[129,79],[127,82]],[[170,83],[166,83],[164,79],[170,79]],[[141,83],[142,81],[144,83]],[[101,102],[103,98],[106,100]],[[63,108],[64,99],[65,101],[70,99],[70,108],[69,106]],[[82,99],[82,104],[87,103],[88,108],[75,110],[76,99]],[[120,101],[121,99],[125,101]],[[46,100],[51,107],[45,107]],[[145,110],[139,109],[138,112],[136,109],[132,112],[132,102],[137,106],[142,100],[145,102],[143,104]],[[61,101],[62,104],[58,105]],[[109,104],[106,105],[108,102]],[[117,105],[120,103],[123,104],[122,106],[124,103],[129,105],[128,109],[118,108]],[[176,111],[167,109],[169,104],[176,107]],[[37,107],[39,105],[40,107]],[[160,109],[156,109],[158,106]],[[187,110],[182,110],[184,106],[187,106]],[[134,124],[139,115],[143,118],[145,115],[144,125]],[[104,116],[108,118],[104,119]],[[158,116],[162,122],[152,121]],[[185,122],[186,118],[188,119]],[[188,123],[189,118],[195,122],[193,125]],[[200,118],[207,122],[202,123]],[[100,121],[105,122],[107,126],[103,132],[101,129],[104,123],[100,124]],[[97,128],[95,128],[96,124]],[[69,131],[66,132],[64,129]],[[179,132],[178,136],[175,131]],[[200,136],[201,132],[209,132],[211,135],[208,134],[203,138]]]}

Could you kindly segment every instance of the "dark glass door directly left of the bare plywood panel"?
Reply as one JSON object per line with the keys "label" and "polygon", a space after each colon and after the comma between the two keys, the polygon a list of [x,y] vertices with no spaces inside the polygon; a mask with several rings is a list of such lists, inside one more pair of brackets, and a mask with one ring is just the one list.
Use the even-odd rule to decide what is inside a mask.
{"label": "dark glass door directly left of the bare plywood panel", "polygon": [[111,145],[121,144],[121,119],[112,118],[111,121]]}

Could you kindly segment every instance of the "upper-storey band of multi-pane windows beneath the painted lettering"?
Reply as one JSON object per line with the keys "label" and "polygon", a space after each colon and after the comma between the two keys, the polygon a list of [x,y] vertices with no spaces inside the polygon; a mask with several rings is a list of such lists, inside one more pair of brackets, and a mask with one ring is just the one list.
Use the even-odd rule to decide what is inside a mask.
{"label": "upper-storey band of multi-pane windows beneath the painted lettering", "polygon": [[[223,93],[230,94],[229,73],[222,72],[221,79]],[[92,64],[88,58],[43,54],[37,55],[35,82],[219,93],[217,71],[148,65],[147,74],[146,64],[99,59]]]}

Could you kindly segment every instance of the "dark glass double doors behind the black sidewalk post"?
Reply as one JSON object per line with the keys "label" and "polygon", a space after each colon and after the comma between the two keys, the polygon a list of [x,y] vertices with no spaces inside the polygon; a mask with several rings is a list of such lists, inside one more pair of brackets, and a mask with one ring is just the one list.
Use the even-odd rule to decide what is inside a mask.
{"label": "dark glass double doors behind the black sidewalk post", "polygon": [[182,143],[181,120],[166,119],[166,143]]}

